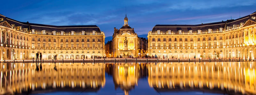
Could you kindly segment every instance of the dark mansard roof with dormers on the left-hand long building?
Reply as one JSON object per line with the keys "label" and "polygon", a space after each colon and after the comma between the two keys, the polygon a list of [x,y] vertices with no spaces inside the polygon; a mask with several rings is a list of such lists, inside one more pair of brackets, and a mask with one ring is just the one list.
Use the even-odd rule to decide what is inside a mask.
{"label": "dark mansard roof with dormers on the left-hand long building", "polygon": [[7,21],[10,25],[14,25],[14,28],[22,27],[28,28],[28,30],[35,29],[35,32],[41,32],[45,30],[46,33],[52,33],[52,31],[60,32],[64,31],[65,33],[69,33],[71,31],[75,31],[76,33],[80,33],[81,31],[85,31],[85,33],[92,33],[95,31],[100,33],[100,28],[96,25],[73,25],[73,26],[54,26],[54,25],[45,25],[45,24],[36,24],[36,23],[29,23],[29,22],[20,22],[17,20],[13,20],[11,18],[5,17],[4,15],[0,14],[0,18],[3,18],[4,21]]}

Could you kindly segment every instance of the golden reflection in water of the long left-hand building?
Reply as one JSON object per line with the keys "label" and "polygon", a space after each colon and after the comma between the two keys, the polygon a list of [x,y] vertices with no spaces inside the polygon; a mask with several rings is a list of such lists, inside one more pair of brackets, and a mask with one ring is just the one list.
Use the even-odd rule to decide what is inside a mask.
{"label": "golden reflection in water of the long left-hand building", "polygon": [[98,91],[105,86],[104,64],[0,64],[0,94],[53,90]]}

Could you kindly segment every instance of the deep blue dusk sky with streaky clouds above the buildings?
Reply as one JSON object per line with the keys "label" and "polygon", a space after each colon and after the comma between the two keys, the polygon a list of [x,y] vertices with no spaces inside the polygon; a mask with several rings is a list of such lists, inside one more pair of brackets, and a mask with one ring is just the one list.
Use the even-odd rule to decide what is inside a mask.
{"label": "deep blue dusk sky with streaky clouds above the buildings", "polygon": [[128,24],[146,37],[156,24],[201,24],[249,15],[256,11],[256,0],[4,0],[0,14],[30,23],[97,25],[108,37],[124,24],[125,9]]}

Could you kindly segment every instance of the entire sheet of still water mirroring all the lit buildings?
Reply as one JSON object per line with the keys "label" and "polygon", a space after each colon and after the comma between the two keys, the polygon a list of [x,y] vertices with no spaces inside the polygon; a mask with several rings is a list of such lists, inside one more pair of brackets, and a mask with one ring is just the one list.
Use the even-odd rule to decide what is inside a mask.
{"label": "entire sheet of still water mirroring all the lit buildings", "polygon": [[255,62],[0,64],[0,94],[256,94]]}

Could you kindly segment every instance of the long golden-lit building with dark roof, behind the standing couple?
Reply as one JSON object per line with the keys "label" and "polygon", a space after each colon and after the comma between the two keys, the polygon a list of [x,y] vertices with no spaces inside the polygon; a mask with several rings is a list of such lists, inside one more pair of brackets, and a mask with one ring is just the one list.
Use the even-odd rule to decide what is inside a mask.
{"label": "long golden-lit building with dark roof, behind the standing couple", "polygon": [[[105,34],[96,25],[52,26],[20,22],[0,15],[0,58],[86,59],[104,56]],[[36,59],[36,58],[35,58]]]}

